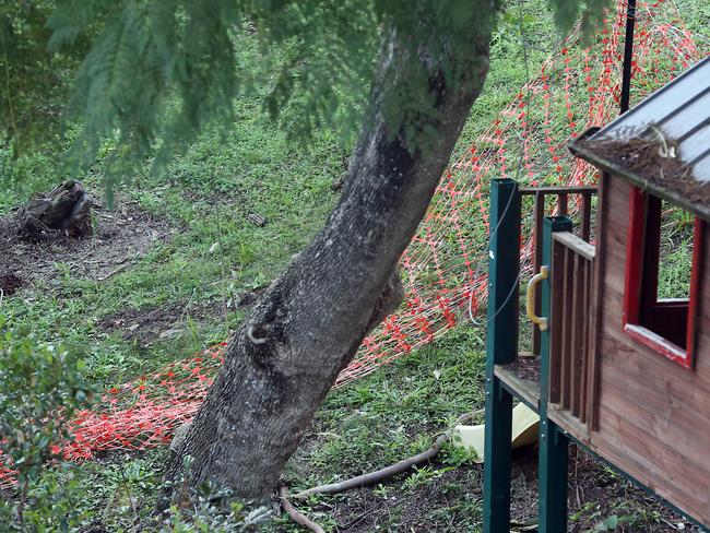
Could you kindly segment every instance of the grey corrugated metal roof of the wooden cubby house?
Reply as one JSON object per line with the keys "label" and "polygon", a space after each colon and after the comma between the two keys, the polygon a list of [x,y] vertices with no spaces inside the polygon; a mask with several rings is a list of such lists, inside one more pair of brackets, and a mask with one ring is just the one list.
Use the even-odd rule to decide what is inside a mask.
{"label": "grey corrugated metal roof of the wooden cubby house", "polygon": [[[604,141],[614,141],[619,146],[638,139],[671,146],[670,157],[675,159],[677,176],[658,179],[653,171],[610,161],[594,144],[601,141],[597,144],[601,147]],[[710,56],[601,130],[571,142],[570,150],[610,173],[710,218],[707,201],[710,198]]]}

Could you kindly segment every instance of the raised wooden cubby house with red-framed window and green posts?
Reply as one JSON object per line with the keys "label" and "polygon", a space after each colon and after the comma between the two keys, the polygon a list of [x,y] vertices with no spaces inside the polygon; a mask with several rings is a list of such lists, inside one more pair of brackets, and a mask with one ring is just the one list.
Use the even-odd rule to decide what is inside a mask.
{"label": "raised wooden cubby house with red-framed window and green posts", "polygon": [[[484,531],[509,531],[513,399],[540,415],[539,531],[567,531],[570,441],[707,531],[710,58],[570,150],[599,168],[597,187],[492,185]],[[517,246],[525,202],[535,234],[528,308],[537,325],[532,356],[521,357],[511,294],[525,266]],[[667,298],[659,279],[672,210],[684,213],[675,220],[689,228],[691,264],[684,294]]]}

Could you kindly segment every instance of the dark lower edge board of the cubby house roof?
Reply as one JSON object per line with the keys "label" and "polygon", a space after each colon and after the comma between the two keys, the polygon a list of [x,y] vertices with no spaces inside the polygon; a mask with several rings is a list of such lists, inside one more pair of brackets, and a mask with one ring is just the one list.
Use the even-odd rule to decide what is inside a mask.
{"label": "dark lower edge board of the cubby house roof", "polygon": [[703,218],[705,221],[710,221],[710,205],[706,205],[699,202],[693,202],[687,198],[678,194],[675,191],[668,190],[665,187],[660,187],[658,183],[653,181],[649,181],[648,179],[643,178],[642,176],[639,176],[632,170],[622,167],[606,159],[605,157],[595,154],[594,152],[589,150],[584,144],[580,143],[580,141],[589,139],[597,131],[599,128],[590,128],[578,139],[575,139],[573,141],[569,142],[567,146],[569,147],[571,153],[575,154],[577,157],[581,157],[582,159],[591,163],[592,165],[601,168],[602,170],[614,176],[620,176],[623,178],[626,178],[637,187],[640,187],[642,190],[648,191],[653,196],[661,197],[664,200],[667,200],[668,202],[696,214],[697,216]]}

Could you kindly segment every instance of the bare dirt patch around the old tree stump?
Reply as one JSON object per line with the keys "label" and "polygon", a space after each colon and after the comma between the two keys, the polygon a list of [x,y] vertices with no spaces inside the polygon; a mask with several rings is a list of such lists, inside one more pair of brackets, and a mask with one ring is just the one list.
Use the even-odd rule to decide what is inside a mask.
{"label": "bare dirt patch around the old tree stump", "polygon": [[96,210],[95,233],[83,239],[62,234],[32,242],[16,234],[14,214],[0,217],[3,272],[34,286],[50,283],[68,270],[74,277],[105,280],[143,257],[176,229],[166,221],[121,202],[115,211]]}

